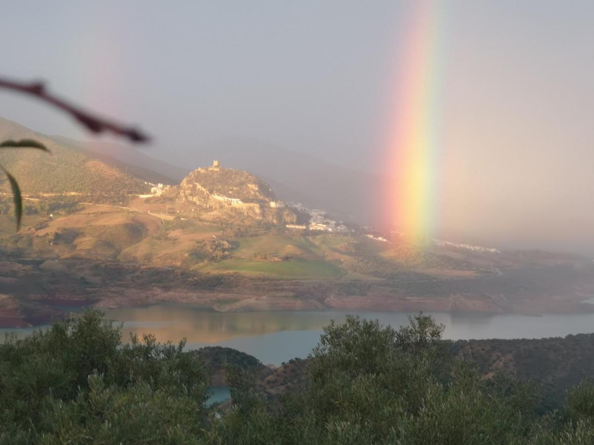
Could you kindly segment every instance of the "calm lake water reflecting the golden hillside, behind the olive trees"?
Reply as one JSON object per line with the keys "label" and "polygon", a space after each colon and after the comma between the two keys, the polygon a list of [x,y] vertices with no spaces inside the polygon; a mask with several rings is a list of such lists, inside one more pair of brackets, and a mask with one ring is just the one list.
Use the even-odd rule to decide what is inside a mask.
{"label": "calm lake water reflecting the golden hillside, behind the olive trees", "polygon": [[[124,323],[124,336],[153,333],[158,341],[178,342],[187,338],[190,349],[220,345],[239,349],[263,363],[279,365],[293,357],[307,357],[330,320],[342,322],[347,313],[378,319],[398,328],[406,325],[409,313],[371,311],[301,311],[220,313],[191,306],[150,306],[109,310],[106,317]],[[594,314],[431,313],[444,323],[444,338],[543,338],[594,332]],[[32,329],[0,329],[24,336]]]}

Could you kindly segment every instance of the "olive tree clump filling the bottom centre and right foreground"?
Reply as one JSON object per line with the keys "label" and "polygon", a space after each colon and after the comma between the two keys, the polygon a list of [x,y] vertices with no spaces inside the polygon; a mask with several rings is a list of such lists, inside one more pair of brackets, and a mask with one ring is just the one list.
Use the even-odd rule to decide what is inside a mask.
{"label": "olive tree clump filling the bottom centre and right foreground", "polygon": [[399,330],[347,317],[324,329],[308,384],[275,408],[239,381],[235,405],[208,431],[225,444],[594,443],[594,385],[571,390],[568,407],[535,414],[538,391],[505,376],[486,380],[454,359],[443,325],[410,318]]}

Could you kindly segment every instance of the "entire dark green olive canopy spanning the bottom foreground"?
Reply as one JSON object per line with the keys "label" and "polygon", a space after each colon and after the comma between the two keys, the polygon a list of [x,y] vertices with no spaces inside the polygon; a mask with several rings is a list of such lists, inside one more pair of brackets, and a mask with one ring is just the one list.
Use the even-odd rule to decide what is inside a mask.
{"label": "entire dark green olive canopy spanning the bottom foreground", "polygon": [[594,384],[536,413],[538,388],[484,379],[454,359],[443,325],[419,314],[399,330],[347,317],[312,351],[307,384],[271,403],[254,373],[228,365],[233,404],[206,406],[197,354],[153,336],[121,342],[99,311],[0,345],[0,443],[589,444]]}

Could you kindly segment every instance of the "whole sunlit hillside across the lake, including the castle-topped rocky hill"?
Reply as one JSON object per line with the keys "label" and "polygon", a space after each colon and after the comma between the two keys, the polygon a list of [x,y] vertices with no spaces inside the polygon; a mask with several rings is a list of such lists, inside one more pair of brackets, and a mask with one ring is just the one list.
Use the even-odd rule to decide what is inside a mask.
{"label": "whole sunlit hillside across the lake, including the castle-topped rocky hill", "polygon": [[[286,224],[294,223],[298,214],[279,203],[271,205],[276,196],[270,186],[247,171],[197,169],[181,185],[146,198],[138,196],[149,187],[141,180],[150,173],[144,167],[146,171],[128,168],[67,139],[39,135],[7,120],[0,120],[0,136],[39,138],[53,151],[40,158],[31,157],[41,152],[27,150],[18,157],[10,149],[0,153],[0,164],[6,164],[29,193],[23,230],[16,234],[10,193],[0,196],[4,258],[110,261],[263,281],[259,288],[251,281],[248,287],[227,289],[232,295],[222,298],[225,304],[217,301],[216,293],[204,303],[207,290],[194,289],[189,296],[184,282],[163,297],[200,300],[217,310],[594,310],[581,303],[594,293],[594,267],[586,258],[470,252],[447,243],[419,246],[397,238],[369,239],[362,231],[346,235],[293,230]],[[137,156],[128,152],[126,158]],[[145,159],[143,165],[157,164]],[[83,278],[91,282],[92,274]],[[272,280],[278,282],[272,285]],[[33,298],[29,291],[11,288],[15,290],[9,298]],[[138,291],[154,301],[154,290],[149,286]],[[128,297],[110,287],[77,286],[69,292],[68,298],[80,298],[74,293],[92,295],[90,303],[106,298],[116,306],[138,302],[137,295]],[[110,293],[119,295],[118,303],[106,297]]]}

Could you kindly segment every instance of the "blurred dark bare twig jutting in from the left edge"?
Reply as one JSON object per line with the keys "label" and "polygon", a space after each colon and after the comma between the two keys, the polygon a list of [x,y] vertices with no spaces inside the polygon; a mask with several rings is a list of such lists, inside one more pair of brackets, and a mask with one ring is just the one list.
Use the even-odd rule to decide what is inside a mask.
{"label": "blurred dark bare twig jutting in from the left edge", "polygon": [[19,91],[21,93],[31,94],[41,100],[52,104],[59,109],[69,113],[74,119],[86,126],[89,131],[93,133],[101,133],[103,131],[110,131],[116,135],[123,136],[130,139],[132,142],[147,142],[149,136],[142,133],[140,130],[132,127],[121,126],[114,122],[100,119],[90,113],[84,112],[71,104],[46,93],[45,84],[43,82],[15,82],[0,78],[0,88],[8,88],[8,90]]}

